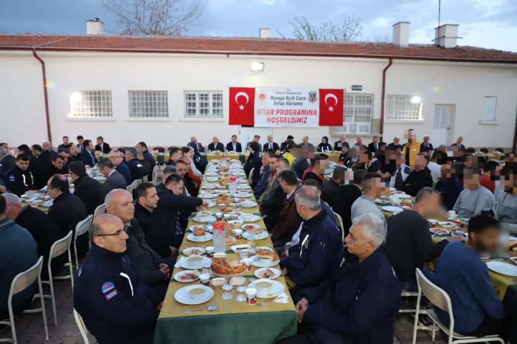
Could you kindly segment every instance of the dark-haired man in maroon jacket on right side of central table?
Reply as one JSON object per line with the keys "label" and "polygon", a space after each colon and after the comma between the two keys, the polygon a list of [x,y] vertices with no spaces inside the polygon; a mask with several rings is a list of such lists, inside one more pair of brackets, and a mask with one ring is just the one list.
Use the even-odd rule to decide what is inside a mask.
{"label": "dark-haired man in maroon jacket on right side of central table", "polygon": [[280,172],[279,183],[286,196],[278,211],[278,221],[269,230],[269,237],[273,242],[273,247],[283,247],[299,217],[296,211],[295,197],[300,186],[298,185],[296,173],[292,169]]}

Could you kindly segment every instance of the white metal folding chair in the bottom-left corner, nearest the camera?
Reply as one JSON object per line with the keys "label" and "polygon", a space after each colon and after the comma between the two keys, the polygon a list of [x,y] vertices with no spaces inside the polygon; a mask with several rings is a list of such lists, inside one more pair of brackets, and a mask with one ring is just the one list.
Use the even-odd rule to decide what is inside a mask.
{"label": "white metal folding chair in the bottom-left corner, nearest the camera", "polygon": [[42,293],[42,288],[41,288],[41,267],[42,267],[42,265],[43,265],[43,257],[41,256],[41,257],[39,257],[36,264],[34,264],[31,268],[14,276],[14,278],[11,282],[11,289],[9,290],[9,296],[7,298],[7,308],[9,310],[9,321],[7,321],[7,320],[0,321],[0,324],[2,324],[2,325],[11,326],[12,339],[2,338],[2,339],[0,339],[0,342],[8,342],[8,343],[15,343],[15,344],[17,343],[16,327],[14,327],[14,314],[12,311],[12,296],[27,289],[29,286],[31,286],[34,283],[34,281],[36,279],[38,280],[38,290],[39,290],[39,299],[41,302],[41,308],[24,310],[23,312],[24,313],[35,313],[35,312],[41,311],[41,314],[43,316],[43,326],[45,329],[45,339],[49,340],[49,328],[47,326],[47,314],[45,314],[45,303],[43,300],[43,293]]}

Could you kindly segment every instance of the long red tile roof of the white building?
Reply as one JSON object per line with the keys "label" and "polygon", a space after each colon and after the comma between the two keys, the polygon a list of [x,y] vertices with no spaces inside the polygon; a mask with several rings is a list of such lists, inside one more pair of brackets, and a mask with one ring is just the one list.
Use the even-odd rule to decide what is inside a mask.
{"label": "long red tile roof of the white building", "polygon": [[0,34],[0,50],[112,51],[426,59],[517,63],[517,53],[458,46],[321,42],[276,38]]}

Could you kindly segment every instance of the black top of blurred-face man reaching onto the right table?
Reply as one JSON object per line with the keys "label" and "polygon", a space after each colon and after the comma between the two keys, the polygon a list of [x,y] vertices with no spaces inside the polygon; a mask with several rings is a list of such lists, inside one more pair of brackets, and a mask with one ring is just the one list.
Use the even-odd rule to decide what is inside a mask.
{"label": "black top of blurred-face man reaching onto the right table", "polygon": [[438,258],[447,244],[447,240],[433,244],[427,220],[416,211],[404,210],[388,223],[384,253],[400,282],[409,282],[416,280],[415,269]]}

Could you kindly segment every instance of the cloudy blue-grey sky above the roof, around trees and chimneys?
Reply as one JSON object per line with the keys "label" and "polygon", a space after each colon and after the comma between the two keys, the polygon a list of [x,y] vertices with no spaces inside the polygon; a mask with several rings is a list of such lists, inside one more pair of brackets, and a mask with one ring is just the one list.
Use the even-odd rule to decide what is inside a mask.
{"label": "cloudy blue-grey sky above the roof, around trees and chimneys", "polygon": [[[288,37],[296,16],[318,24],[339,23],[345,14],[360,18],[363,39],[391,37],[392,24],[409,21],[409,42],[430,44],[438,0],[208,0],[188,35],[256,37],[269,27],[272,37]],[[0,0],[0,33],[85,34],[85,20],[93,18],[115,32],[114,16],[99,0]],[[442,0],[440,22],[460,24],[460,45],[517,52],[517,0]]]}

